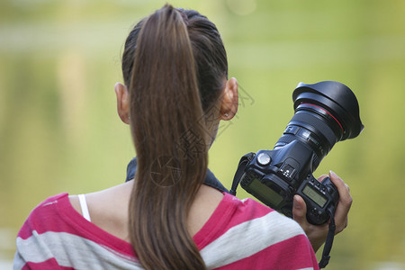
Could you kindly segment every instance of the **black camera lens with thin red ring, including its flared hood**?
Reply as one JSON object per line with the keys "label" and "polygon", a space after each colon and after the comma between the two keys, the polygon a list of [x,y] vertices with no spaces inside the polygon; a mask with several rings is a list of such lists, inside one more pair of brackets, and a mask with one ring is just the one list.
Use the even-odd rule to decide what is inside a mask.
{"label": "black camera lens with thin red ring, including its flared hood", "polygon": [[275,148],[298,139],[314,153],[312,169],[340,140],[356,138],[364,129],[356,95],[347,85],[324,81],[300,83],[293,92],[295,114]]}

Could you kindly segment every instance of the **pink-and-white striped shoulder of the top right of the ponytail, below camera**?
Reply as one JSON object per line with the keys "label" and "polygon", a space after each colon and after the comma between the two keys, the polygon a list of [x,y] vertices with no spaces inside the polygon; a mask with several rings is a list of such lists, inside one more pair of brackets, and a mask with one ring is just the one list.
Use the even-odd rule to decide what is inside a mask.
{"label": "pink-and-white striped shoulder of the top right of the ponytail, below camera", "polygon": [[[230,194],[224,196],[220,207],[228,208],[229,214],[222,211],[217,216],[226,222],[216,222],[223,228],[201,248],[207,266],[232,265],[234,269],[314,266],[311,244],[294,220],[252,199],[239,200]],[[291,256],[297,257],[295,251],[300,255],[292,260]]]}

